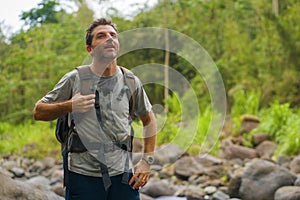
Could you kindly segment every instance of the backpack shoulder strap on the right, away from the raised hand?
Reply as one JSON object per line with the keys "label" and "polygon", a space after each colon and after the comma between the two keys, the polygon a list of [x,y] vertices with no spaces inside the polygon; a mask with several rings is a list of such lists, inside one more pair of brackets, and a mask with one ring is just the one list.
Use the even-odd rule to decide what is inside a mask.
{"label": "backpack shoulder strap on the right, away from the raised hand", "polygon": [[129,114],[131,119],[135,119],[136,116],[134,114],[134,108],[135,108],[135,102],[136,102],[136,80],[135,80],[135,75],[133,74],[132,71],[129,69],[126,69],[125,67],[120,67],[121,71],[124,75],[124,81],[125,84],[128,86],[129,91],[130,91],[130,99],[129,99]]}

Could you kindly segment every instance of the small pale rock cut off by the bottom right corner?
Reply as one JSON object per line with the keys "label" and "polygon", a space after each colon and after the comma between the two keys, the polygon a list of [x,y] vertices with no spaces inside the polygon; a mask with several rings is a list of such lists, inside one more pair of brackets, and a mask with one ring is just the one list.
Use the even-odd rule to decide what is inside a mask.
{"label": "small pale rock cut off by the bottom right corner", "polygon": [[285,186],[279,188],[275,192],[274,200],[299,200],[300,187],[299,186]]}

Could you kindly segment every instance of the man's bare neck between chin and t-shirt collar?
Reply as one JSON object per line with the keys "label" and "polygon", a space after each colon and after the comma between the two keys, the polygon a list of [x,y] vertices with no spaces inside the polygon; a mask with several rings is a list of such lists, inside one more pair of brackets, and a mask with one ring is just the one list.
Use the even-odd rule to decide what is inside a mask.
{"label": "man's bare neck between chin and t-shirt collar", "polygon": [[97,63],[95,60],[91,64],[91,70],[93,73],[97,74],[98,76],[112,76],[117,72],[117,61],[114,60],[110,63]]}

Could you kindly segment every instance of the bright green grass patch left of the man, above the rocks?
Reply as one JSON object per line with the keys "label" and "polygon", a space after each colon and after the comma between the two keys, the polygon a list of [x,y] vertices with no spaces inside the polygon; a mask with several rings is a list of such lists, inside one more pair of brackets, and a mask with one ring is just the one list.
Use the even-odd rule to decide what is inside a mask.
{"label": "bright green grass patch left of the man, above the rocks", "polygon": [[50,123],[26,122],[17,126],[0,123],[0,155],[14,154],[32,158],[60,156],[60,144]]}

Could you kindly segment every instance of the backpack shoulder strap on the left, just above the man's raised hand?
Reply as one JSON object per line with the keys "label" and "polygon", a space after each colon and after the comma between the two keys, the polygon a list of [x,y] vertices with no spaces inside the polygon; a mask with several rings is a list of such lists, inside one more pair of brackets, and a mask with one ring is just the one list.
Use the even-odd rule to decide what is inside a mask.
{"label": "backpack shoulder strap on the left, just above the man's raised hand", "polygon": [[80,91],[82,95],[93,93],[93,74],[89,65],[76,67],[80,78]]}

